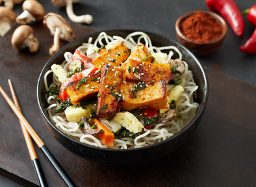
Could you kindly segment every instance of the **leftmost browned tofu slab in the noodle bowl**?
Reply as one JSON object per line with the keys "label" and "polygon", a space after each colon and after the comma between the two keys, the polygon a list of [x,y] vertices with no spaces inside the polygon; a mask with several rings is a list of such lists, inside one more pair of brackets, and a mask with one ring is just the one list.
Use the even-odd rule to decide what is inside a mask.
{"label": "leftmost browned tofu slab in the noodle bowl", "polygon": [[66,86],[66,91],[70,96],[72,104],[79,103],[83,98],[92,98],[96,96],[101,85],[101,83],[99,83],[100,77],[100,72],[86,76],[83,78],[86,79],[86,82],[81,83],[81,86],[78,86],[78,84],[82,81],[82,78],[80,80],[68,83]]}

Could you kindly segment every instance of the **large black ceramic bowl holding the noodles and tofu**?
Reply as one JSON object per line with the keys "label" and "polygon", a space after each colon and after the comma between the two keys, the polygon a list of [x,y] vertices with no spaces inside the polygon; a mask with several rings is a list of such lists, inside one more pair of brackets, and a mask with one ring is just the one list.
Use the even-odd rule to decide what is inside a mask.
{"label": "large black ceramic bowl holding the noodles and tofu", "polygon": [[[106,33],[110,36],[122,36],[125,38],[131,32],[135,32],[136,30],[109,30]],[[203,116],[205,111],[205,105],[207,104],[207,98],[209,93],[208,88],[208,81],[201,67],[197,58],[192,54],[189,50],[185,47],[174,41],[173,39],[167,38],[166,36],[162,36],[160,34],[156,34],[153,32],[145,32],[150,38],[153,45],[157,47],[173,45],[177,47],[183,54],[183,60],[186,61],[189,65],[189,69],[192,70],[194,74],[194,80],[196,81],[199,89],[197,91],[199,102],[199,109],[198,113],[194,117],[194,119],[179,133],[173,135],[162,142],[157,144],[153,144],[151,146],[147,146],[144,148],[136,148],[136,149],[105,149],[105,148],[96,148],[94,146],[89,146],[78,142],[77,140],[73,140],[72,138],[68,137],[61,131],[55,127],[53,122],[50,120],[49,116],[47,115],[46,108],[48,106],[45,100],[45,86],[44,86],[44,74],[47,72],[53,63],[62,63],[64,61],[64,53],[74,52],[77,47],[82,45],[82,43],[87,42],[89,37],[92,37],[95,41],[98,34],[90,34],[88,36],[84,36],[83,38],[76,39],[75,41],[69,43],[62,49],[60,49],[46,64],[44,69],[42,70],[39,80],[38,80],[38,87],[37,87],[37,99],[40,111],[44,117],[45,124],[48,127],[49,131],[51,131],[52,135],[64,146],[66,149],[70,150],[71,152],[75,153],[75,155],[79,155],[86,160],[90,160],[92,162],[96,162],[99,164],[105,164],[109,166],[131,166],[137,164],[144,164],[146,162],[151,162],[153,160],[160,159],[174,151],[175,149],[179,148],[181,144],[186,142],[186,140],[192,135],[195,131],[196,127],[198,127],[199,122]],[[176,54],[176,53],[175,53]],[[176,54],[177,55],[177,54]],[[174,56],[174,58],[178,58],[178,56]],[[51,78],[47,81],[48,83],[51,82]],[[125,161],[124,161],[125,160]]]}

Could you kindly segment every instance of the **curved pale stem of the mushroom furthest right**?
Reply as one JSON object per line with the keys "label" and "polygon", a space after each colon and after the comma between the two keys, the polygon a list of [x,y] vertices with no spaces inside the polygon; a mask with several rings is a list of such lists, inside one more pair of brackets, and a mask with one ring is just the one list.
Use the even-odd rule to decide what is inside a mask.
{"label": "curved pale stem of the mushroom furthest right", "polygon": [[87,24],[92,23],[92,16],[90,14],[85,14],[82,16],[76,16],[74,14],[72,0],[66,1],[66,11],[67,11],[68,17],[70,17],[71,21],[73,21],[75,23],[87,23]]}

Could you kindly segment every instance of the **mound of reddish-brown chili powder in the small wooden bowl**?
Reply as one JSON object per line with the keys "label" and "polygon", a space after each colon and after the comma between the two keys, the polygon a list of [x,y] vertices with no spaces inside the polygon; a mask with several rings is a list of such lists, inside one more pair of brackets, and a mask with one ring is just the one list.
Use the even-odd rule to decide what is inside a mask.
{"label": "mound of reddish-brown chili powder in the small wooden bowl", "polygon": [[208,42],[220,38],[223,29],[214,17],[198,11],[186,17],[179,25],[186,38],[193,41]]}

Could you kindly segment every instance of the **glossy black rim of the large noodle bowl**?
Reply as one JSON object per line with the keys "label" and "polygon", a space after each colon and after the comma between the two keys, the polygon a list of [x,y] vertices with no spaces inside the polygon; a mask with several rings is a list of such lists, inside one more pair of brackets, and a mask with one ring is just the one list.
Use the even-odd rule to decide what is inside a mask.
{"label": "glossy black rim of the large noodle bowl", "polygon": [[[44,109],[42,108],[42,105],[40,103],[40,85],[42,83],[44,83],[44,74],[45,74],[45,69],[47,69],[49,67],[49,64],[51,64],[51,61],[54,60],[55,57],[58,56],[58,54],[61,54],[64,50],[66,50],[66,48],[70,47],[71,45],[73,45],[73,43],[76,43],[77,41],[81,41],[81,40],[84,40],[86,38],[90,38],[91,36],[95,36],[96,34],[99,35],[101,32],[144,32],[146,34],[154,34],[158,37],[162,37],[162,38],[166,38],[170,41],[172,41],[173,43],[175,43],[175,45],[179,45],[179,47],[183,48],[186,50],[186,52],[188,52],[190,54],[190,56],[192,56],[194,58],[194,60],[196,61],[196,64],[198,65],[199,69],[201,70],[202,74],[203,74],[203,81],[205,83],[205,89],[204,89],[204,92],[205,92],[205,97],[202,98],[202,101],[201,101],[201,105],[199,105],[199,109],[196,113],[196,116],[183,128],[181,129],[181,131],[179,131],[178,133],[176,133],[175,135],[173,135],[172,137],[170,138],[166,138],[166,140],[162,140],[160,142],[157,142],[155,144],[152,144],[152,145],[149,145],[149,146],[145,146],[145,147],[142,147],[142,148],[134,148],[134,149],[109,149],[109,148],[99,148],[99,147],[96,147],[96,146],[90,146],[88,144],[84,144],[83,142],[79,142],[78,140],[75,140],[71,137],[69,137],[68,135],[62,133],[62,131],[60,131],[54,124],[51,120],[49,120],[49,116],[47,116],[47,112],[44,111]],[[63,56],[64,58],[64,56]],[[101,31],[98,31],[98,32],[94,32],[92,34],[88,34],[86,36],[83,36],[81,38],[77,38],[75,39],[74,41],[68,43],[67,45],[65,45],[64,47],[62,47],[60,50],[58,50],[58,52],[56,54],[54,54],[48,61],[47,63],[45,63],[42,71],[40,72],[40,76],[38,78],[38,83],[37,83],[37,87],[36,87],[36,96],[37,96],[37,102],[38,102],[38,107],[40,109],[40,112],[42,113],[42,115],[44,116],[44,120],[46,120],[46,122],[48,124],[51,125],[51,127],[53,127],[53,129],[55,129],[58,133],[60,133],[60,135],[64,136],[65,138],[68,138],[69,140],[71,140],[71,142],[75,143],[75,144],[79,144],[79,146],[88,146],[88,148],[92,148],[92,149],[97,149],[98,151],[110,151],[110,152],[116,152],[116,151],[123,151],[123,152],[126,152],[126,151],[139,151],[139,150],[144,150],[144,149],[148,149],[148,148],[152,148],[154,146],[158,146],[160,144],[165,144],[166,142],[172,140],[173,138],[175,137],[178,137],[179,135],[181,135],[182,133],[184,133],[186,131],[186,129],[188,129],[188,127],[190,127],[197,119],[198,117],[201,115],[201,113],[203,113],[204,109],[205,109],[205,105],[207,104],[207,99],[208,99],[208,96],[209,96],[209,82],[208,82],[208,78],[205,74],[205,71],[203,70],[203,67],[201,66],[201,64],[199,63],[198,61],[198,58],[196,58],[196,56],[190,51],[188,50],[186,47],[184,47],[183,45],[181,45],[181,43],[175,41],[174,39],[172,38],[169,38],[168,36],[164,36],[163,34],[159,34],[159,33],[156,33],[156,32],[151,32],[149,30],[141,30],[141,29],[110,29],[110,30],[101,30]]]}

